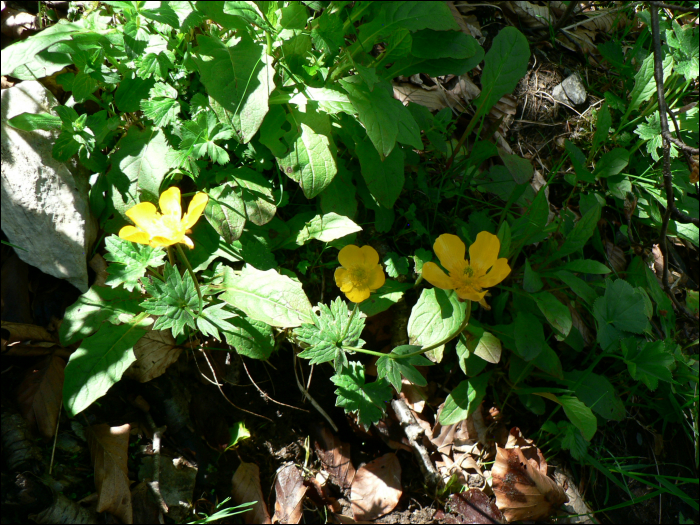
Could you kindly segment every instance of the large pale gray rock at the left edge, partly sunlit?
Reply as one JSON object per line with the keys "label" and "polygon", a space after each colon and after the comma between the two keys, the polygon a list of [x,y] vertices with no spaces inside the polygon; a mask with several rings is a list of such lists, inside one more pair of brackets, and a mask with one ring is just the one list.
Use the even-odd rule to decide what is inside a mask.
{"label": "large pale gray rock at the left edge, partly sunlit", "polygon": [[87,257],[97,234],[88,205],[88,174],[77,162],[54,160],[58,132],[20,131],[7,120],[50,113],[58,105],[39,82],[2,91],[2,231],[17,255],[44,273],[88,289]]}

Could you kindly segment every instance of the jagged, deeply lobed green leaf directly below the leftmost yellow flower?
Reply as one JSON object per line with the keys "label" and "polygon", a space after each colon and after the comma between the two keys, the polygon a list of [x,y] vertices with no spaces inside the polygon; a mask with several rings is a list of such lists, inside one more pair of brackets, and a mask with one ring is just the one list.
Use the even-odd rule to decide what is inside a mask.
{"label": "jagged, deeply lobed green leaf directly below the leftmost yellow flower", "polygon": [[141,307],[150,315],[159,316],[153,329],[170,328],[173,337],[184,334],[185,326],[196,330],[195,316],[199,299],[189,272],[180,276],[177,267],[166,262],[163,277],[165,282],[152,278],[143,283],[151,297],[142,302]]}

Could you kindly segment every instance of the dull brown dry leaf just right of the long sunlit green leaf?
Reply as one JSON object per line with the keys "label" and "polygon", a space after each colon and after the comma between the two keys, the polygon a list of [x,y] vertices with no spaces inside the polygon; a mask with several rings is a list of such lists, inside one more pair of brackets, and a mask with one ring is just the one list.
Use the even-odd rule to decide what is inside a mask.
{"label": "dull brown dry leaf just right of the long sunlit green leaf", "polygon": [[124,375],[146,383],[165,373],[180,357],[182,348],[175,345],[169,330],[149,330],[134,345],[134,361]]}

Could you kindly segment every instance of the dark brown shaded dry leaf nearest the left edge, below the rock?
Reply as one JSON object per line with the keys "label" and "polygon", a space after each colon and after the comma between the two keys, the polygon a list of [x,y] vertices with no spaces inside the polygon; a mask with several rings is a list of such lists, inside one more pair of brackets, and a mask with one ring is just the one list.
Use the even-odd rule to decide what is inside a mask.
{"label": "dark brown shaded dry leaf nearest the left edge, below the rock", "polygon": [[58,413],[63,402],[63,369],[66,362],[47,356],[27,371],[17,388],[20,411],[30,424],[36,424],[42,436],[56,432]]}

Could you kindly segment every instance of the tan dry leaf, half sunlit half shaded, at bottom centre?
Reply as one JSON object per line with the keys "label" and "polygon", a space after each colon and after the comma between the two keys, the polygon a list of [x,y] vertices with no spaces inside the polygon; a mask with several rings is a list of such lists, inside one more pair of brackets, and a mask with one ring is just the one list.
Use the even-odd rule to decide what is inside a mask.
{"label": "tan dry leaf, half sunlit half shaded, at bottom centre", "polygon": [[384,454],[360,467],[352,482],[350,506],[356,520],[374,520],[399,503],[401,465],[396,454]]}

